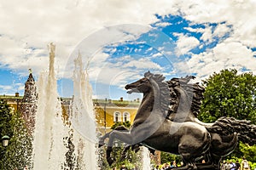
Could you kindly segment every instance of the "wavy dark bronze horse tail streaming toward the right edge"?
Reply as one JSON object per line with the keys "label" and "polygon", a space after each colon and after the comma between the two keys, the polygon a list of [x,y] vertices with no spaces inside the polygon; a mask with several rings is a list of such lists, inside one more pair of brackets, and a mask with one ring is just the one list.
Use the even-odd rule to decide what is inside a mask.
{"label": "wavy dark bronze horse tail streaming toward the right edge", "polygon": [[238,139],[249,145],[256,144],[256,125],[247,120],[237,120],[234,117],[220,117],[211,127],[207,127],[208,132],[218,133],[220,136],[228,136],[238,133]]}

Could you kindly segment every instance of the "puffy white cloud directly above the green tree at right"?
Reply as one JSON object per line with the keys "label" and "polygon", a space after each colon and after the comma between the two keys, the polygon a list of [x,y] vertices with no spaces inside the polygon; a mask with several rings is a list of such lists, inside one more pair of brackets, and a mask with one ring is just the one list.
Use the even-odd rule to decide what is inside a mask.
{"label": "puffy white cloud directly above the green tree at right", "polygon": [[227,39],[207,52],[192,55],[185,63],[179,63],[177,68],[183,72],[197,73],[197,77],[204,78],[226,68],[247,68],[256,72],[255,65],[256,58],[253,57],[251,49],[241,42]]}

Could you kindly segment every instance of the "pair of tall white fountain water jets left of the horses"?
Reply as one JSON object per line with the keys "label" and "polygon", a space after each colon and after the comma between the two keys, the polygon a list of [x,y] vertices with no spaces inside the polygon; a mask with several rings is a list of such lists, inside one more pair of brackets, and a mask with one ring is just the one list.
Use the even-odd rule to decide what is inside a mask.
{"label": "pair of tall white fountain water jets left of the horses", "polygon": [[[61,101],[57,94],[55,45],[52,43],[49,44],[49,51],[49,72],[42,72],[38,80],[32,167],[45,170],[96,169],[96,124],[88,74],[84,72],[79,56],[75,60],[73,74],[74,97],[69,117],[71,126],[67,126],[63,122]],[[69,153],[68,146],[72,150]],[[71,155],[69,160],[68,154]]]}

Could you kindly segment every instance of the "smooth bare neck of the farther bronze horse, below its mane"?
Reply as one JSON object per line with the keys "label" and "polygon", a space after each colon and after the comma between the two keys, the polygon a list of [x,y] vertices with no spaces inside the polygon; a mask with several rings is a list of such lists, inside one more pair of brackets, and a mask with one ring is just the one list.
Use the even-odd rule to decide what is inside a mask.
{"label": "smooth bare neck of the farther bronze horse, below its mane", "polygon": [[[189,96],[183,88],[175,88],[179,93],[179,106],[177,110],[177,116],[183,117],[183,114],[187,116],[186,120],[195,122],[195,116],[190,111],[190,106],[192,104],[192,96]],[[187,115],[188,114],[188,115]]]}

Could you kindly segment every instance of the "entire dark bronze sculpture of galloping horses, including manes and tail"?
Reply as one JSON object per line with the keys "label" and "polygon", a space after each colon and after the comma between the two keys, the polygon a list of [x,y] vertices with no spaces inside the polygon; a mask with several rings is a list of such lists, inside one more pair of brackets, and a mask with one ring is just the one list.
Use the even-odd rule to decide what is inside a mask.
{"label": "entire dark bronze sculpture of galloping horses, including manes and tail", "polygon": [[[113,162],[113,140],[119,139],[130,146],[143,144],[153,150],[161,150],[182,156],[184,166],[172,169],[219,169],[223,156],[236,148],[238,139],[256,143],[255,125],[248,121],[221,117],[217,122],[199,121],[198,114],[204,88],[189,84],[194,77],[165,77],[149,71],[137,82],[125,86],[127,93],[143,93],[143,100],[130,129],[117,127],[106,133],[100,146],[108,138],[107,159]],[[204,159],[206,163],[197,163]]]}

